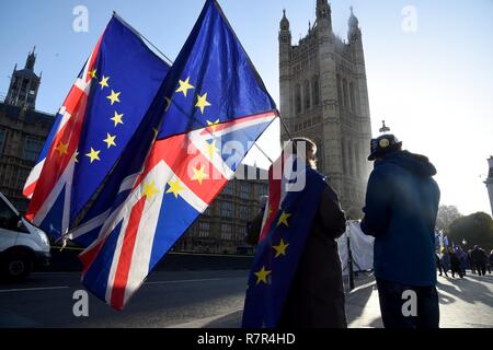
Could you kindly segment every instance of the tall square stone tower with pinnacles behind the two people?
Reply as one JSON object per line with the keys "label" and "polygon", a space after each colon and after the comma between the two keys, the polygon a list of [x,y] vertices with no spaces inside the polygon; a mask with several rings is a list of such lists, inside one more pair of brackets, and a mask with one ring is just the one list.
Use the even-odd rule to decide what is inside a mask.
{"label": "tall square stone tower with pinnacles behind the two people", "polygon": [[[318,145],[319,171],[329,176],[346,214],[359,219],[370,171],[371,124],[365,56],[351,9],[347,40],[334,35],[328,0],[317,0],[317,20],[291,45],[284,11],[279,28],[280,114],[293,137]],[[287,140],[282,129],[282,140]]]}

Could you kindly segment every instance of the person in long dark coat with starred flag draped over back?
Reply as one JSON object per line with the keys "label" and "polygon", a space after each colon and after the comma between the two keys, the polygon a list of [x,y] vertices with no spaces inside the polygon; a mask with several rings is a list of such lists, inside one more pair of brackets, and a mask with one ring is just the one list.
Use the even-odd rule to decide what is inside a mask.
{"label": "person in long dark coat with starred flag draped over back", "polygon": [[[306,158],[311,167],[316,168],[314,142],[305,138],[297,138],[294,141],[295,144],[307,142]],[[256,228],[259,240],[261,230],[259,222],[262,222],[262,213],[253,222],[251,228]],[[341,209],[336,192],[326,183],[283,308],[279,328],[347,327],[341,258],[335,241],[345,230],[344,211]],[[252,233],[249,236],[251,237]]]}

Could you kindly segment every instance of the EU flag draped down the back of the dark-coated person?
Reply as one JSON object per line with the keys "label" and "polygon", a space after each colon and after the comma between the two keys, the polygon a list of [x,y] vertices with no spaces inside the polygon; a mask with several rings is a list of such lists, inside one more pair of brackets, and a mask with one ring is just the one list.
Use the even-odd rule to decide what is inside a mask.
{"label": "EU flag draped down the back of the dark-coated person", "polygon": [[[246,287],[244,328],[277,327],[325,186],[317,171],[297,168],[299,159],[287,162],[293,166],[283,164],[282,179],[273,177],[282,159],[284,153],[270,170],[270,200]],[[289,190],[302,176],[305,188]]]}

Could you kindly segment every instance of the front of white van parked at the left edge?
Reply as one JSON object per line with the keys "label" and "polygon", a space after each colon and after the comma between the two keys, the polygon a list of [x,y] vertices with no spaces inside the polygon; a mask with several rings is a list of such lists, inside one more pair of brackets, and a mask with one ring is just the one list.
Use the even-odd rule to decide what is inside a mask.
{"label": "front of white van parked at the left edge", "polygon": [[25,220],[0,192],[0,275],[25,279],[34,266],[49,265],[46,234]]}

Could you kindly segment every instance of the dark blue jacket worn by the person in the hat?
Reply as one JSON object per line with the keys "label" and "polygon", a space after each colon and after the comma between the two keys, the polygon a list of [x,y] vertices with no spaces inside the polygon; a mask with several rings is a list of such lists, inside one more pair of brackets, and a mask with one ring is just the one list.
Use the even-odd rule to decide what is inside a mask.
{"label": "dark blue jacket worn by the person in the hat", "polygon": [[440,192],[424,155],[398,151],[375,162],[366,194],[364,233],[375,236],[377,279],[436,284],[435,223]]}

